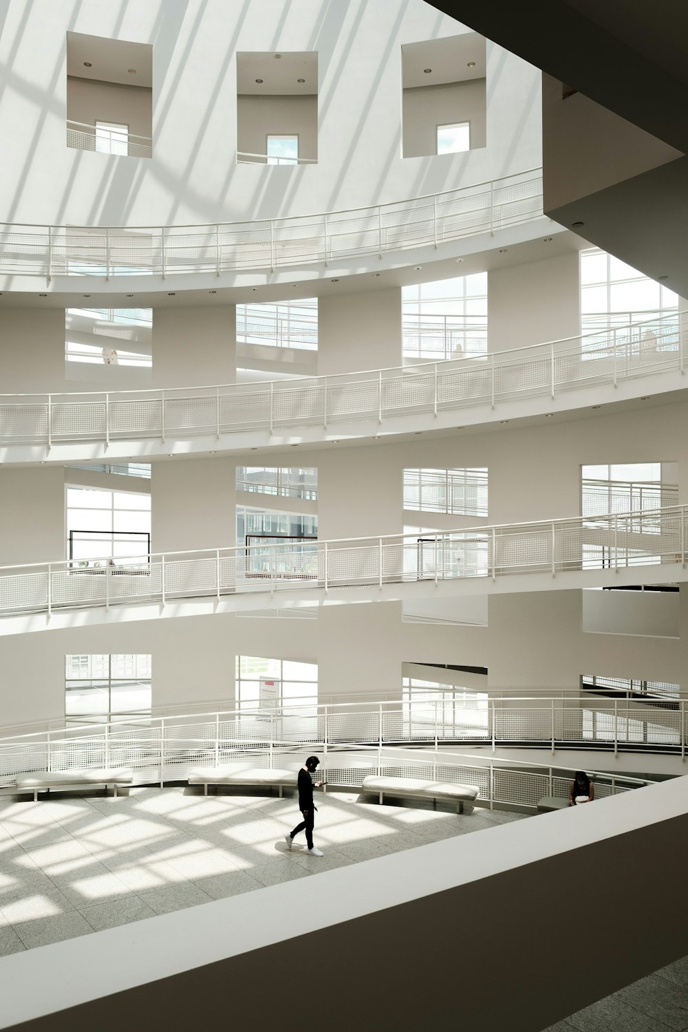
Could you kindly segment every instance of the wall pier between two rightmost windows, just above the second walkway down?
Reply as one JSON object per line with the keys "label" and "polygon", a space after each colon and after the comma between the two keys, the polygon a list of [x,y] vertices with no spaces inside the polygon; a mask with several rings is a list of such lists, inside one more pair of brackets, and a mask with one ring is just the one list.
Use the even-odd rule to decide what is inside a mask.
{"label": "wall pier between two rightmost windows, just above the second walkway down", "polygon": [[581,332],[578,251],[488,272],[488,349],[503,351]]}

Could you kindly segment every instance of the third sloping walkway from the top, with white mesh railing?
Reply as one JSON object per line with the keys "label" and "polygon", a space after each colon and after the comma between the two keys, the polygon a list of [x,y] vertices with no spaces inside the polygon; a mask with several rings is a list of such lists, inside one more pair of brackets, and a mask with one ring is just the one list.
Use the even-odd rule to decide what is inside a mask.
{"label": "third sloping walkway from the top, with white mesh railing", "polygon": [[688,506],[0,568],[1,634],[281,606],[688,580]]}

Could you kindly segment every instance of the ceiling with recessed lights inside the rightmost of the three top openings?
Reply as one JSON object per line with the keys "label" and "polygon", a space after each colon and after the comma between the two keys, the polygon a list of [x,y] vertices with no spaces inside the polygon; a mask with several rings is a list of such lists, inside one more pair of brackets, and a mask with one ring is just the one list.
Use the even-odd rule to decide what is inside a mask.
{"label": "ceiling with recessed lights inside the rightmost of the three top openings", "polygon": [[[474,61],[473,68],[468,62]],[[464,83],[470,78],[485,78],[485,37],[477,32],[445,39],[427,39],[420,43],[404,43],[401,47],[401,80],[403,89],[417,86],[439,86],[446,83]],[[427,73],[425,68],[431,68]]]}

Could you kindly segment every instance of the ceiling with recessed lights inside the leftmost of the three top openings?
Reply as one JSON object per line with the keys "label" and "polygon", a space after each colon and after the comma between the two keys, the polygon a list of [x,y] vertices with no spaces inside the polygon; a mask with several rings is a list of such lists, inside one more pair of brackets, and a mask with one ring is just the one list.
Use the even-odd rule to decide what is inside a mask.
{"label": "ceiling with recessed lights inside the leftmost of the three top openings", "polygon": [[[87,68],[85,61],[91,63]],[[129,69],[135,68],[132,74]],[[67,74],[124,86],[153,85],[153,46],[125,39],[67,33]]]}

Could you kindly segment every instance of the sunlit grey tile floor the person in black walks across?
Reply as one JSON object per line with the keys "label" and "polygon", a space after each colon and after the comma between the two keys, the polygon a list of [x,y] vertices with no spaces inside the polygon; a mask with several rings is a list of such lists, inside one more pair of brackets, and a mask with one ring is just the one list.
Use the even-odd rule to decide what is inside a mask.
{"label": "sunlit grey tile floor the person in black walks across", "polygon": [[328,793],[317,805],[322,858],[306,853],[302,835],[301,848],[287,849],[299,819],[293,797],[204,797],[186,786],[118,799],[2,797],[0,956],[521,819],[379,806],[357,793]]}

